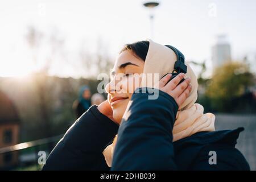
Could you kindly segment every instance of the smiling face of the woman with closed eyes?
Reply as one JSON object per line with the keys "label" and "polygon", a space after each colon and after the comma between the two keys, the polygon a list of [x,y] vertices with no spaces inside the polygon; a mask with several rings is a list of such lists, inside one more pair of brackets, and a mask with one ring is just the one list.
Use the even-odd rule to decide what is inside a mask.
{"label": "smiling face of the woman with closed eyes", "polygon": [[[106,85],[108,101],[113,110],[113,118],[120,123],[131,95],[141,84],[144,61],[130,50],[123,51],[117,57],[111,72],[111,81]],[[137,74],[136,74],[137,73]]]}

